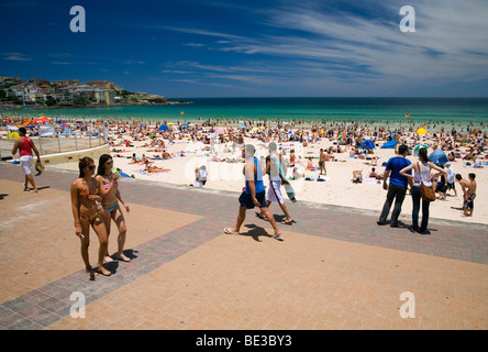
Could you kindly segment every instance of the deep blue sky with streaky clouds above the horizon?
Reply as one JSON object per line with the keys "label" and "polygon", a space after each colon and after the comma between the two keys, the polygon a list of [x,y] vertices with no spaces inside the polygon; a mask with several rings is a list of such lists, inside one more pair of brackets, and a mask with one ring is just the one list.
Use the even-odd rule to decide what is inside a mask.
{"label": "deep blue sky with streaky clouds above the horizon", "polygon": [[0,76],[168,98],[488,97],[487,15],[486,0],[2,0]]}

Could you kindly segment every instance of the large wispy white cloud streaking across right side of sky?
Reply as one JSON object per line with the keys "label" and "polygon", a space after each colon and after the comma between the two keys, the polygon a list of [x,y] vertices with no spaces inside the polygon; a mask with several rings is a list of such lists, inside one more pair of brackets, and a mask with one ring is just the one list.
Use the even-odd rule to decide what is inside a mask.
{"label": "large wispy white cloud streaking across right side of sky", "polygon": [[[166,30],[218,38],[208,45],[209,50],[279,58],[279,66],[260,67],[264,75],[269,75],[268,79],[275,77],[275,80],[286,76],[314,81],[319,76],[350,82],[356,79],[370,85],[412,85],[488,78],[486,0],[410,1],[417,16],[414,33],[400,31],[402,4],[398,2],[368,2],[378,9],[380,15],[377,16],[359,11],[319,11],[317,3],[284,2],[281,7],[259,9],[260,19],[264,19],[262,25],[268,30],[249,31],[246,36],[231,34],[231,30],[177,26]],[[301,62],[300,67],[292,66],[297,61]],[[188,65],[222,74],[241,72],[240,75],[221,75],[221,78],[259,80],[256,76],[246,79],[243,72],[248,66],[245,63],[241,66]]]}

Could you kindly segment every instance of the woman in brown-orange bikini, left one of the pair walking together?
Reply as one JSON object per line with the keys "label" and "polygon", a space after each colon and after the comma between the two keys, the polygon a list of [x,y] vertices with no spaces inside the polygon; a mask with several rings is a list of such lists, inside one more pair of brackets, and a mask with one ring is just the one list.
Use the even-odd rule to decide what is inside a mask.
{"label": "woman in brown-orange bikini, left one of the pair walking together", "polygon": [[98,195],[98,184],[93,178],[95,163],[90,157],[84,157],[79,164],[79,178],[71,184],[71,208],[75,219],[75,232],[81,240],[81,257],[85,262],[87,273],[96,276],[98,273],[93,271],[88,257],[88,246],[90,245],[90,226],[95,230],[100,241],[100,250],[98,252],[98,272],[102,275],[110,276],[110,272],[103,267],[103,257],[107,253],[108,235],[106,224],[103,222],[102,208],[99,208],[97,201],[101,201]]}

